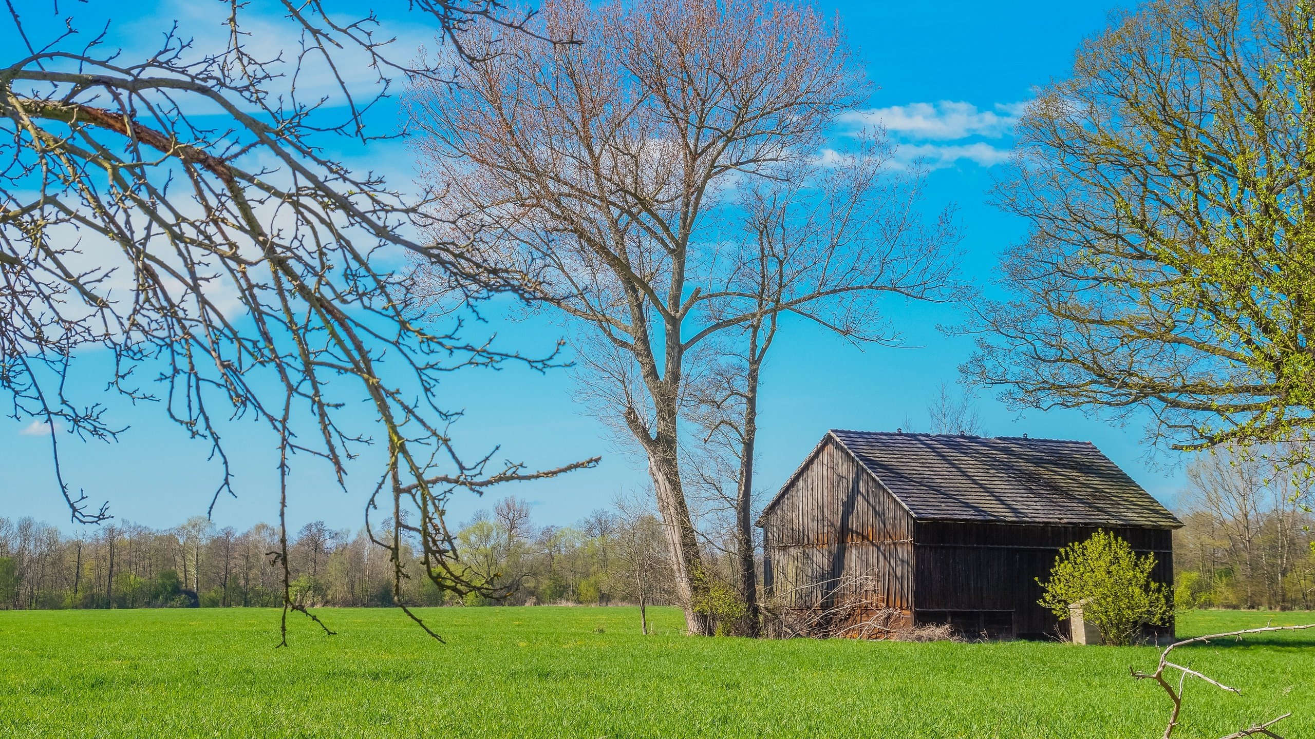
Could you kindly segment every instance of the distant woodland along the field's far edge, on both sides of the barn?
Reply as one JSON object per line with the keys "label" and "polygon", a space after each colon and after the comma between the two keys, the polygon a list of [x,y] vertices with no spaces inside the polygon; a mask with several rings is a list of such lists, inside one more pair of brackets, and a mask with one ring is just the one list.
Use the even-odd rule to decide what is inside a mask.
{"label": "distant woodland along the field's far edge, on both sides of the barn", "polygon": [[[1203,455],[1187,467],[1174,535],[1178,608],[1315,608],[1315,514],[1310,480],[1291,481],[1264,456]],[[439,590],[412,550],[406,605],[675,602],[661,522],[618,502],[573,526],[538,526],[508,497],[476,513],[454,536],[463,564],[502,585],[502,596],[464,600]],[[376,531],[376,535],[385,535]],[[704,531],[709,575],[734,581],[730,531]],[[30,518],[0,518],[0,608],[279,606],[279,530],[217,529],[204,517],[155,530],[110,522],[78,534]],[[715,556],[715,555],[721,556]],[[295,602],[393,605],[388,551],[364,531],[322,522],[289,535]]]}

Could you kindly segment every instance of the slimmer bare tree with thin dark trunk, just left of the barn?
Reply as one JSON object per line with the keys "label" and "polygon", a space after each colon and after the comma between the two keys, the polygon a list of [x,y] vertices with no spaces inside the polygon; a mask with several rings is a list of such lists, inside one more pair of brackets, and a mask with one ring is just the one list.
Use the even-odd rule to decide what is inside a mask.
{"label": "slimmer bare tree with thin dark trunk, just left of the barn", "polygon": [[[959,230],[953,209],[926,218],[919,167],[896,164],[884,131],[856,137],[853,150],[790,163],[740,188],[730,214],[739,249],[727,254],[723,300],[709,321],[746,317],[722,335],[723,359],[696,387],[705,439],[735,460],[735,559],[746,629],[756,634],[757,567],[753,467],[763,367],[786,317],[802,318],[859,346],[898,345],[884,301],[956,300]],[[706,464],[706,463],[705,463]],[[719,488],[715,481],[710,487]]]}

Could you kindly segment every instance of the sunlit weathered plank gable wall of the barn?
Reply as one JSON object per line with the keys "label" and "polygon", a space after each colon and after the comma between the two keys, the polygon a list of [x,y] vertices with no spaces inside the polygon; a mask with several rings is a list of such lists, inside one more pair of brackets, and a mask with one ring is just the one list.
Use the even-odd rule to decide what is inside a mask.
{"label": "sunlit weathered plank gable wall of the barn", "polygon": [[835,441],[763,515],[763,534],[767,586],[785,605],[823,605],[865,576],[863,590],[911,615],[913,518]]}

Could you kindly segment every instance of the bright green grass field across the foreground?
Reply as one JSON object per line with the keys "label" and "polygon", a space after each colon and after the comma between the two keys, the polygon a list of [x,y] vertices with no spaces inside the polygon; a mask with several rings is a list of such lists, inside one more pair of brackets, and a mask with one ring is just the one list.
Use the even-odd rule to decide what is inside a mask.
{"label": "bright green grass field across the foreground", "polygon": [[[629,608],[0,613],[0,736],[1159,736],[1148,647],[694,639]],[[297,615],[297,614],[292,614]],[[289,615],[289,618],[292,618]],[[1180,635],[1315,613],[1194,611]],[[1315,630],[1312,630],[1315,631]],[[1315,632],[1184,648],[1243,690],[1187,689],[1181,736],[1285,711],[1315,735]],[[1176,735],[1177,736],[1177,735]]]}

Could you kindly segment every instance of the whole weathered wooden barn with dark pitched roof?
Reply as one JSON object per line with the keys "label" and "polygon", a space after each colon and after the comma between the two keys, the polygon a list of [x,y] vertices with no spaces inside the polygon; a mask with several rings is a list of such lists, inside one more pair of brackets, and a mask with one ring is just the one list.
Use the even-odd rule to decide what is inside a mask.
{"label": "whole weathered wooden barn with dark pitched roof", "polygon": [[1172,584],[1182,526],[1090,442],[838,430],[757,523],[768,593],[788,608],[863,588],[903,625],[992,638],[1066,635],[1036,579],[1101,529],[1155,554]]}

